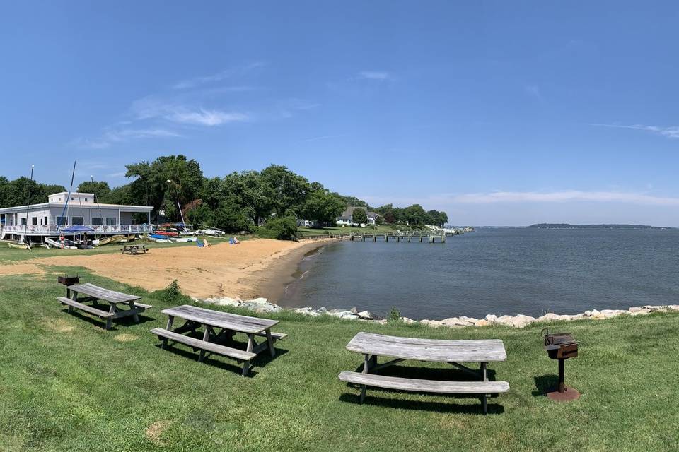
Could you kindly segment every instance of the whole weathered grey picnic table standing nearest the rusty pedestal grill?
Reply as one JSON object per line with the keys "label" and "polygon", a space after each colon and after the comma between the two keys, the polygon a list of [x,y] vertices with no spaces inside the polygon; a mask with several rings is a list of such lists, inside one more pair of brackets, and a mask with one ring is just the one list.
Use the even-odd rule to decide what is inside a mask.
{"label": "whole weathered grey picnic table standing nearest the rusty pedestal grill", "polygon": [[[499,339],[419,339],[361,332],[356,334],[347,344],[347,350],[364,355],[362,372],[342,371],[340,373],[340,380],[361,387],[361,403],[366,397],[366,386],[416,392],[480,394],[485,414],[487,413],[488,394],[509,391],[509,383],[506,381],[489,381],[487,376],[487,364],[489,362],[507,359],[504,343]],[[391,357],[393,359],[378,364],[378,357]],[[475,377],[475,381],[405,379],[374,374],[379,369],[397,364],[405,359],[446,362],[468,372]],[[480,364],[480,369],[470,369],[460,364],[462,362]]]}

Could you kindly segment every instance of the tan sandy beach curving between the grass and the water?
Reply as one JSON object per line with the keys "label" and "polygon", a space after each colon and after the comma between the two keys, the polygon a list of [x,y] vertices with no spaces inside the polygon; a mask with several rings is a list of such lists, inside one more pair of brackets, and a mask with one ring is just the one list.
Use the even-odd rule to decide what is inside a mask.
{"label": "tan sandy beach curving between the grass and the water", "polygon": [[[45,266],[81,266],[122,283],[158,290],[178,280],[192,297],[267,297],[277,300],[294,280],[299,261],[327,240],[284,242],[245,240],[199,249],[178,246],[152,249],[149,254],[92,254],[38,258],[0,266],[0,275],[43,273]],[[67,251],[66,251],[67,252]]]}

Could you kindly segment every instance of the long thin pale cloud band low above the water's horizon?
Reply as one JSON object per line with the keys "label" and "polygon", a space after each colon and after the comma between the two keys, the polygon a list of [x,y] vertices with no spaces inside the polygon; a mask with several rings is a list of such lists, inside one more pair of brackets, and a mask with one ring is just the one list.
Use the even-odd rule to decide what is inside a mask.
{"label": "long thin pale cloud band low above the water's horizon", "polygon": [[679,198],[654,196],[644,193],[622,191],[495,191],[443,196],[453,203],[564,203],[569,201],[593,201],[608,203],[634,203],[651,206],[679,206]]}

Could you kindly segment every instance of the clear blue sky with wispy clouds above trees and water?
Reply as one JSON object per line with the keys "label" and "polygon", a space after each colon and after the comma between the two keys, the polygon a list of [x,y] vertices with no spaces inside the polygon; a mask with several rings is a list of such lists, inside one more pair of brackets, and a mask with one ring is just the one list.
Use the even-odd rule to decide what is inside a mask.
{"label": "clear blue sky with wispy clouds above trees and water", "polygon": [[679,226],[679,4],[2,1],[0,174],[287,165],[459,225]]}

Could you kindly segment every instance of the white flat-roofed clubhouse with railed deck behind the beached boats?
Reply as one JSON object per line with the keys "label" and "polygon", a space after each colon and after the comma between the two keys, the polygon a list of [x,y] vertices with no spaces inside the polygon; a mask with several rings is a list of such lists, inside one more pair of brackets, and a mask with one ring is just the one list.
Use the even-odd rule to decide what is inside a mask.
{"label": "white flat-roofed clubhouse with railed deck behind the beached boats", "polygon": [[[48,196],[46,203],[0,208],[0,239],[21,239],[25,234],[37,242],[40,237],[69,235],[62,230],[74,225],[91,227],[98,235],[153,232],[151,206],[98,204],[92,193],[71,193],[68,198],[69,193],[62,191]],[[134,224],[134,214],[139,213],[146,213],[146,222]]]}

